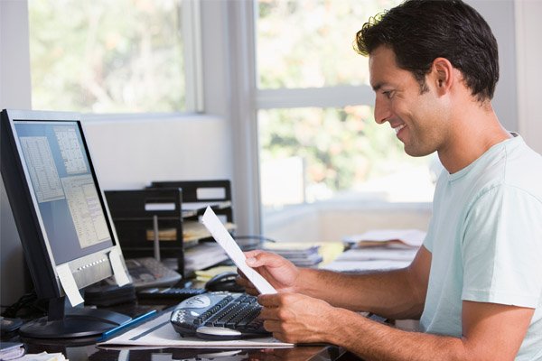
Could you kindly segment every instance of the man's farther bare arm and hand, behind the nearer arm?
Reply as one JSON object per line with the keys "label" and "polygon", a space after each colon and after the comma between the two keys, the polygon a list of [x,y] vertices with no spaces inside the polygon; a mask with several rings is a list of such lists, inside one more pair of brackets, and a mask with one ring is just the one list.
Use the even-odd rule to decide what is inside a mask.
{"label": "man's farther bare arm and hand, behind the nearer arm", "polygon": [[[333,306],[393,319],[419,318],[424,308],[431,266],[431,253],[424,246],[406,268],[363,274],[300,269],[282,257],[261,251],[246,255],[247,264],[279,292],[303,293]],[[256,291],[246,279],[239,283],[248,287],[248,292]]]}

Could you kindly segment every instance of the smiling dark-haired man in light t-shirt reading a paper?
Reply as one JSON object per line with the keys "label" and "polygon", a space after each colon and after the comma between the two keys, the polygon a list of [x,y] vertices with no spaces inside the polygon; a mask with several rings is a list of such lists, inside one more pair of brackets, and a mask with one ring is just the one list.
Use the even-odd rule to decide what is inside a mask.
{"label": "smiling dark-haired man in light t-shirt reading a paper", "polygon": [[[251,251],[278,291],[260,295],[265,328],[364,359],[542,359],[542,157],[500,125],[489,25],[460,0],[406,1],[364,24],[375,120],[406,153],[437,152],[445,170],[424,245],[408,267],[364,274],[296,268]],[[245,277],[238,282],[250,293]],[[366,319],[420,318],[423,332]]]}

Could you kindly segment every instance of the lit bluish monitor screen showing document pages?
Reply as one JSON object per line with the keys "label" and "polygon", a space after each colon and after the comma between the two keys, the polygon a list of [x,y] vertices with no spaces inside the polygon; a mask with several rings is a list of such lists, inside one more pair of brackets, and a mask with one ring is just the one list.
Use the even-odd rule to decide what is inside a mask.
{"label": "lit bluish monitor screen showing document pages", "polygon": [[113,245],[77,122],[14,120],[55,264]]}

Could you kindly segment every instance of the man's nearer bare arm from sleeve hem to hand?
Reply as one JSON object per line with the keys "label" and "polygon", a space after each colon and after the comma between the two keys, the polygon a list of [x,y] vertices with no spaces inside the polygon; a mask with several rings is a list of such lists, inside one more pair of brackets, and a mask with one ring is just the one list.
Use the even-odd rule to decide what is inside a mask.
{"label": "man's nearer bare arm from sleeve hem to hand", "polygon": [[260,316],[274,337],[285,342],[328,342],[364,359],[513,360],[533,309],[463,301],[463,337],[394,329],[322,300],[279,293],[259,296]]}

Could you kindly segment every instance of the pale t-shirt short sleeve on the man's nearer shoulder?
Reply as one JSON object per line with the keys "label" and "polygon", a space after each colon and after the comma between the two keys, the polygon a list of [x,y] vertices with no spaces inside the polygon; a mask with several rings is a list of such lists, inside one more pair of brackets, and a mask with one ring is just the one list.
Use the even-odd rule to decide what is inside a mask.
{"label": "pale t-shirt short sleeve on the man's nearer shoulder", "polygon": [[464,301],[537,307],[542,293],[540,199],[508,185],[484,191],[468,209],[463,235]]}

